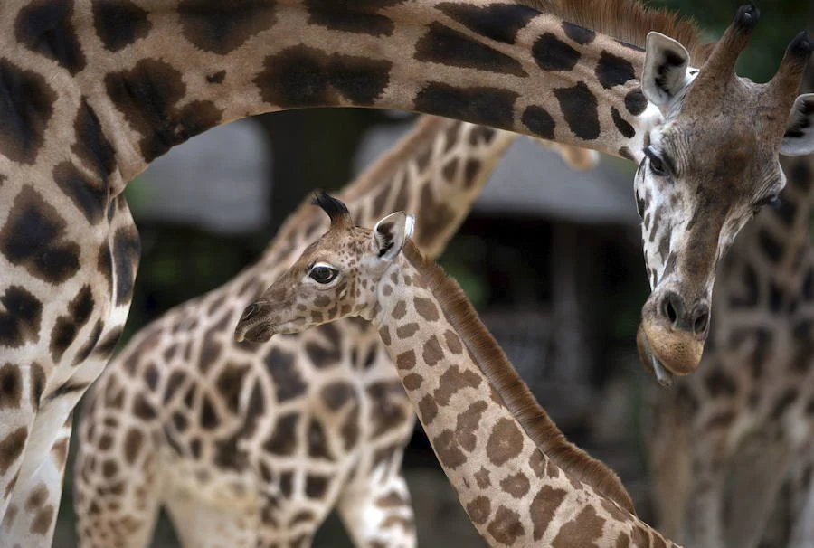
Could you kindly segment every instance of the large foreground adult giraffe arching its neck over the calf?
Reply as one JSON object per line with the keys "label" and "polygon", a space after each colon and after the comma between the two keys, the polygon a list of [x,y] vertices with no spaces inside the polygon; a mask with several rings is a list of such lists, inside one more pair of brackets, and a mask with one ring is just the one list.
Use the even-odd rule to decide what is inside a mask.
{"label": "large foreground adult giraffe arching its neck over the calf", "polygon": [[[139,244],[125,184],[171,146],[251,114],[418,110],[641,160],[655,290],[639,340],[662,374],[691,371],[717,257],[780,191],[779,148],[807,150],[808,99],[794,96],[811,42],[798,36],[759,85],[734,74],[753,8],[699,72],[691,54],[701,61],[707,50],[692,25],[630,0],[589,7],[0,5],[0,543],[50,543],[71,411],[107,363],[132,297]],[[645,43],[652,29],[689,52],[658,33]],[[38,502],[30,526],[9,523],[12,499]]]}

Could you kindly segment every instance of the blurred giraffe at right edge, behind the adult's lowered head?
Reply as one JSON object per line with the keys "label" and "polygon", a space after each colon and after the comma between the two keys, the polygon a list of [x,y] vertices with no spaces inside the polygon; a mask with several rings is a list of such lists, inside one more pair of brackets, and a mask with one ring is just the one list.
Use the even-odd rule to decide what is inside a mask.
{"label": "blurred giraffe at right edge, behind the adult's lowered head", "polygon": [[[659,526],[700,548],[756,547],[778,527],[784,538],[766,546],[812,539],[814,504],[797,506],[814,496],[814,156],[784,169],[781,203],[760,213],[722,262],[704,373],[656,394],[648,412]],[[796,530],[770,523],[789,490],[800,498],[790,509]]]}

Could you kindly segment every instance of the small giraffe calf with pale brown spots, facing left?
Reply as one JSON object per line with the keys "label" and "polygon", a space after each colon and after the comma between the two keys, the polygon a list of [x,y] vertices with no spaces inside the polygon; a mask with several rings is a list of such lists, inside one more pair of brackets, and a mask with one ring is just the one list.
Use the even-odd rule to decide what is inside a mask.
{"label": "small giraffe calf with pale brown spots, facing left", "polygon": [[373,231],[319,194],[330,229],[246,308],[254,342],[341,317],[374,323],[441,466],[492,546],[667,547],[619,478],[576,448],[535,401],[459,285],[393,213]]}

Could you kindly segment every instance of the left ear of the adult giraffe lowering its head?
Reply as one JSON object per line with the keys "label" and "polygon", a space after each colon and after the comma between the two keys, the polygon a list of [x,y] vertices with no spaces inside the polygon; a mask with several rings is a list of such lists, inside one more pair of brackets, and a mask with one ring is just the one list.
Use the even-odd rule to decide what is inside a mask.
{"label": "left ear of the adult giraffe lowering its head", "polygon": [[693,80],[689,53],[683,45],[661,33],[648,33],[641,92],[667,116],[673,100]]}

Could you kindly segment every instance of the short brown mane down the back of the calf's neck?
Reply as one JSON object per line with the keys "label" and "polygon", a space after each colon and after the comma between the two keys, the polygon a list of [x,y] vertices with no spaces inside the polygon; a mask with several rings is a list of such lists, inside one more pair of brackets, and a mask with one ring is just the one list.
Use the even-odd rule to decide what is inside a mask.
{"label": "short brown mane down the back of the calf's neck", "polygon": [[458,282],[448,277],[440,266],[426,259],[411,240],[404,245],[402,253],[419,271],[432,295],[439,300],[441,310],[458,331],[478,368],[537,449],[570,476],[590,485],[600,495],[607,496],[630,514],[636,515],[633,501],[620,478],[611,468],[568,441],[536,401],[495,337],[480,321]]}

